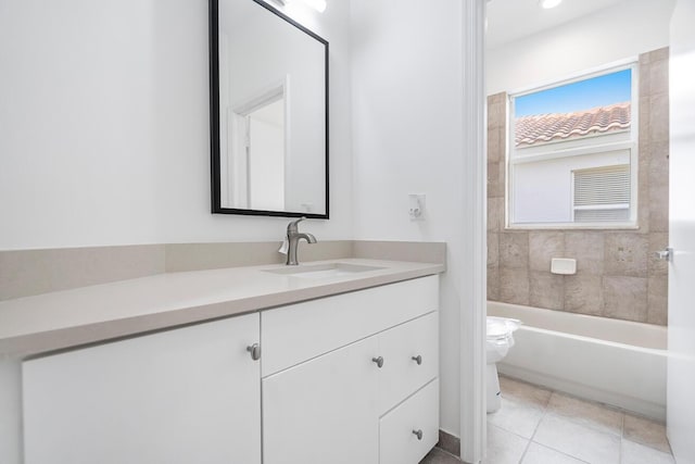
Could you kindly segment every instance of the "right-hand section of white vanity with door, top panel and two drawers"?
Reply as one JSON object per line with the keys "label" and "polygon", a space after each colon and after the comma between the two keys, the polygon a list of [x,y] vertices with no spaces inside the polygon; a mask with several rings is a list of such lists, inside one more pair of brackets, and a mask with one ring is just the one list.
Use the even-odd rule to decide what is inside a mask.
{"label": "right-hand section of white vanity with door, top panel and two drawers", "polygon": [[264,464],[417,464],[439,434],[439,280],[262,314]]}

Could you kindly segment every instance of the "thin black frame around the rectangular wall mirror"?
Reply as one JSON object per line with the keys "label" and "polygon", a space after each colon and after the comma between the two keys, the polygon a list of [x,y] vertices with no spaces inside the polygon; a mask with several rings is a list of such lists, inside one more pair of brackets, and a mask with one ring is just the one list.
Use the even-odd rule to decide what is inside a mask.
{"label": "thin black frame around the rectangular wall mirror", "polygon": [[315,220],[329,218],[329,170],[328,170],[328,148],[329,148],[329,117],[328,117],[328,41],[319,37],[312,30],[296,23],[280,11],[265,3],[263,0],[250,0],[268,10],[276,16],[285,20],[304,34],[313,37],[325,46],[325,88],[326,88],[326,212],[325,214],[312,214],[304,212],[288,211],[266,211],[266,210],[244,210],[237,208],[223,208],[220,198],[220,167],[219,167],[219,0],[210,0],[210,134],[211,134],[211,190],[212,190],[212,213],[213,214],[243,214],[252,216],[280,216],[280,217],[309,217]]}

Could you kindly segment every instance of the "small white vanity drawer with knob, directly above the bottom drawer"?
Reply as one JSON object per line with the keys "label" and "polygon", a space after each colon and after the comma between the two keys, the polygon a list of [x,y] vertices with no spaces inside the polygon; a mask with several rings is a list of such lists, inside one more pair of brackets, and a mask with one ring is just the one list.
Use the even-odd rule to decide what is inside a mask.
{"label": "small white vanity drawer with knob, directly above the bottom drawer", "polygon": [[[439,373],[439,313],[432,312],[379,335],[379,413],[419,390]],[[419,362],[419,363],[418,363]]]}

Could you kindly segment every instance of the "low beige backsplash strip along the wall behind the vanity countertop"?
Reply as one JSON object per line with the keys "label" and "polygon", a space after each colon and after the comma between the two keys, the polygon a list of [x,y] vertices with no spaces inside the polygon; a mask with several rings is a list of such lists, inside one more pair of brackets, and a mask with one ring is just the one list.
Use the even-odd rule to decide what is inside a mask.
{"label": "low beige backsplash strip along the wall behind the vanity countertop", "polygon": [[[161,243],[0,250],[0,302],[154,274],[281,264],[280,241]],[[446,265],[446,243],[321,240],[300,243],[302,262],[362,258]]]}

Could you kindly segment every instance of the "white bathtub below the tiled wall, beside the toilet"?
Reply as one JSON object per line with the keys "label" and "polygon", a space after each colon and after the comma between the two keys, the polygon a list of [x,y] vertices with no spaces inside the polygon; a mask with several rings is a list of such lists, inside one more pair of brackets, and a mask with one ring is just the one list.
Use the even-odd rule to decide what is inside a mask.
{"label": "white bathtub below the tiled wall, beside the toilet", "polygon": [[523,322],[501,373],[666,418],[666,327],[494,301],[488,315]]}

